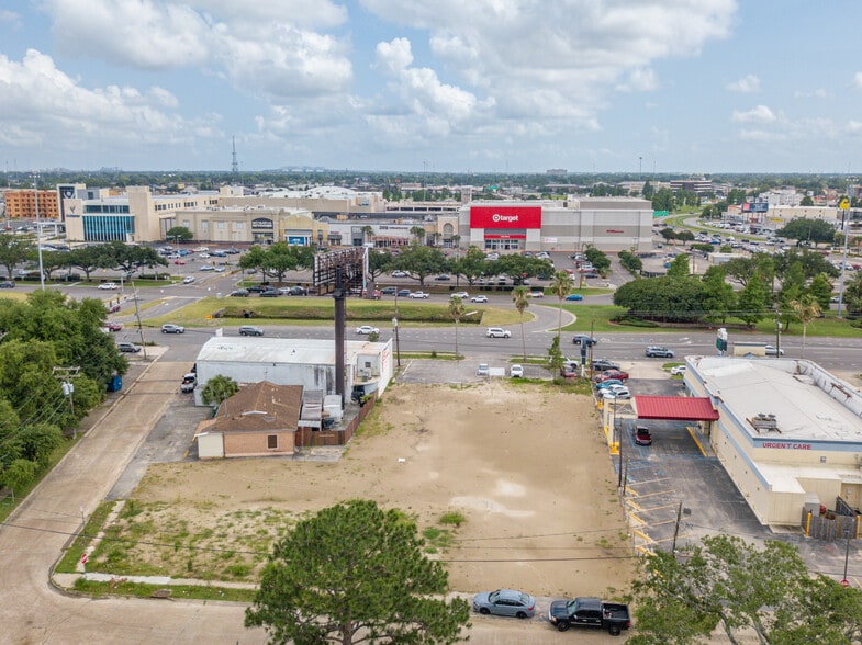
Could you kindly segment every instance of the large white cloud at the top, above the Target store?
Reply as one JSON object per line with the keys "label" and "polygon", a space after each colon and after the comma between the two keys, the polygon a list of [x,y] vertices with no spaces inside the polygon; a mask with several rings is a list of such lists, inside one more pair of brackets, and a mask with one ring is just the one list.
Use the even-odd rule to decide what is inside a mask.
{"label": "large white cloud at the top, above the Target store", "polygon": [[657,89],[653,63],[697,55],[730,33],[736,15],[735,0],[360,2],[381,19],[427,30],[447,77],[493,102],[489,120],[508,121],[504,128],[526,120],[549,132],[595,129],[613,91]]}

